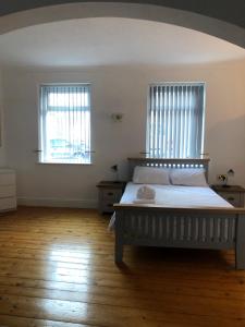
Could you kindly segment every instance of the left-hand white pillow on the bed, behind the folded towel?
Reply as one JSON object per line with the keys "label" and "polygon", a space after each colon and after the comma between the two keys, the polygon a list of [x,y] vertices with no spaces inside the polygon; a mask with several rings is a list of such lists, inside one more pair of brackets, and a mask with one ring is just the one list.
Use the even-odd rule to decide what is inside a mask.
{"label": "left-hand white pillow on the bed, behind the folded towel", "polygon": [[169,170],[164,168],[136,166],[133,182],[136,184],[170,185]]}

